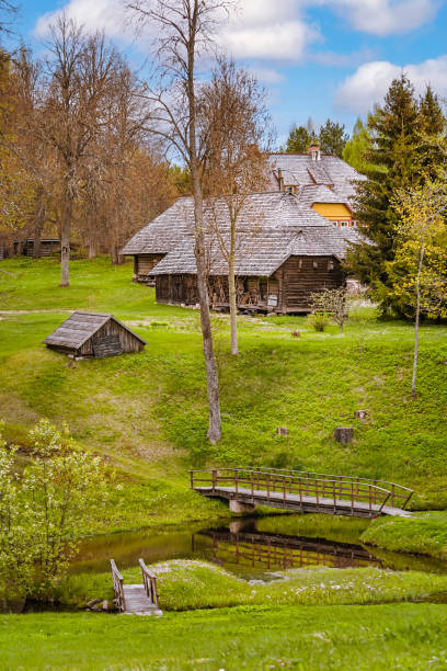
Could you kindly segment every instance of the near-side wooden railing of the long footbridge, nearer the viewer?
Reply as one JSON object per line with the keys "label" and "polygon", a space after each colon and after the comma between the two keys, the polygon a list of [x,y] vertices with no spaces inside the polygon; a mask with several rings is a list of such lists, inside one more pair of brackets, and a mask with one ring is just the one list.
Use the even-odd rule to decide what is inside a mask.
{"label": "near-side wooden railing of the long footbridge, nearer the viewer", "polygon": [[[380,513],[391,497],[391,491],[360,479],[333,479],[330,476],[317,477],[312,474],[285,475],[280,471],[222,468],[192,470],[191,487],[211,491],[230,488],[234,493],[271,500],[297,501],[300,504],[316,502],[317,505],[334,505],[351,502],[351,508],[362,504],[369,512]],[[278,496],[279,494],[279,496]]]}

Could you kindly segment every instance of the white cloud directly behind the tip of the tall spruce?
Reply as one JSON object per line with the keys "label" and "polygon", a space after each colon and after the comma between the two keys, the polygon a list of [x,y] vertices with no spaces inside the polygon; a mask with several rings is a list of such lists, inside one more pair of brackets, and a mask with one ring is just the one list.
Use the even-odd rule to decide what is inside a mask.
{"label": "white cloud directly behind the tip of the tall spruce", "polygon": [[401,72],[409,77],[416,93],[423,93],[427,83],[442,95],[447,92],[447,56],[403,67],[376,60],[360,66],[344,80],[335,94],[335,105],[340,110],[365,114],[374,103],[381,102],[391,81]]}

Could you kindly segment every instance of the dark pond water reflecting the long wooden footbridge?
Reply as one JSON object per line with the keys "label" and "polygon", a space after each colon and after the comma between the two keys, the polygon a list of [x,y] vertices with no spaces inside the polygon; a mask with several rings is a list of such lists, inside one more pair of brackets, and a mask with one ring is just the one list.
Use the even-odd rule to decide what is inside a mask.
{"label": "dark pond water reflecting the long wooden footbridge", "polygon": [[[300,533],[302,518],[306,518],[306,533]],[[316,518],[316,528],[311,518]],[[94,536],[82,542],[71,572],[108,571],[112,557],[119,569],[138,566],[139,557],[147,565],[168,559],[203,559],[248,580],[265,580],[272,572],[307,566],[377,566],[447,572],[447,562],[440,560],[362,545],[354,521],[354,528],[349,527],[351,520],[346,520],[335,528],[328,524],[324,530],[318,525],[317,518],[321,515],[244,518],[226,525],[210,522],[164,532],[141,530]]]}

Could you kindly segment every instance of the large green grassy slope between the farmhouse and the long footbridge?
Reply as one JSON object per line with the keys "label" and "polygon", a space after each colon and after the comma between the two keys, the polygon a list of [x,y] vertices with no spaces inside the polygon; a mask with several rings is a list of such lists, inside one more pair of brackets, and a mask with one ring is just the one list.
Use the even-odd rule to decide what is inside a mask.
{"label": "large green grassy slope between the farmhouse and the long footbridge", "polygon": [[[187,467],[205,463],[393,479],[417,490],[420,507],[447,507],[447,368],[437,363],[447,360],[445,327],[422,329],[414,402],[409,325],[381,323],[368,312],[342,337],[335,328],[306,330],[302,318],[242,317],[241,354],[231,359],[227,317],[216,317],[224,440],[210,447],[197,312],[156,305],[153,289],[131,284],[129,264],[112,268],[105,259],[73,262],[69,289],[57,286],[53,260],[11,260],[1,269],[10,275],[0,275],[0,310],[55,310],[0,321],[7,434],[25,442],[24,428],[39,417],[67,421],[118,468],[126,486],[96,528],[209,515],[211,504],[190,493],[185,478]],[[146,338],[146,351],[74,363],[46,350],[43,338],[74,308],[113,311]],[[358,408],[369,412],[364,424],[352,419]],[[332,439],[341,424],[356,429],[348,447]],[[288,439],[275,435],[278,425],[289,428]]]}

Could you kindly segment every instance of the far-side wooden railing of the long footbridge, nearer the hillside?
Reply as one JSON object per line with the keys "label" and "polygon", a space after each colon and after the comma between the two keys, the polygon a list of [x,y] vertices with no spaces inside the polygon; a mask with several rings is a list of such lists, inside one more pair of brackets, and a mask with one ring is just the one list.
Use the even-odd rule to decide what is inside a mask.
{"label": "far-side wooden railing of the long footbridge, nearer the hillside", "polygon": [[[271,482],[275,484],[276,481],[279,481],[280,478],[291,478],[293,479],[293,484],[295,482],[295,480],[297,480],[297,482],[299,484],[299,481],[301,484],[306,484],[307,489],[309,490],[309,494],[308,496],[312,496],[310,494],[310,488],[312,487],[312,482],[316,484],[314,488],[318,490],[320,487],[320,484],[322,484],[322,486],[324,487],[324,491],[328,490],[328,487],[332,487],[333,488],[333,484],[337,484],[340,482],[341,485],[337,485],[335,487],[337,496],[343,493],[343,494],[348,494],[351,498],[351,486],[354,489],[354,494],[356,497],[357,501],[365,501],[367,499],[365,499],[365,494],[367,493],[369,496],[369,486],[371,488],[375,488],[377,490],[376,496],[374,494],[374,489],[371,489],[371,496],[374,500],[374,503],[378,503],[379,501],[379,492],[389,492],[389,500],[387,501],[387,503],[389,505],[391,505],[392,508],[401,508],[402,510],[404,510],[411,499],[411,497],[413,496],[413,490],[409,489],[408,487],[403,487],[402,485],[397,485],[396,482],[389,482],[387,480],[374,480],[374,479],[368,479],[368,478],[358,478],[358,477],[348,477],[348,476],[337,476],[337,475],[330,475],[330,474],[322,474],[322,473],[312,473],[312,471],[307,471],[307,470],[289,470],[289,469],[279,469],[279,468],[247,468],[247,467],[238,467],[238,468],[218,468],[218,469],[210,469],[210,470],[195,470],[195,471],[191,471],[192,474],[211,474],[211,473],[216,473],[216,477],[218,478],[218,480],[216,481],[222,481],[221,478],[226,478],[226,476],[228,476],[228,481],[232,480],[234,481],[238,480],[238,482],[241,482],[244,479],[244,474],[254,474],[254,480],[257,481],[262,481],[262,477],[264,477],[264,481],[265,481],[265,476],[270,475],[271,478]],[[193,482],[193,478],[195,479],[196,482],[198,482],[198,475],[192,475],[192,482]],[[247,477],[245,477],[247,480]],[[209,481],[209,479],[207,479],[207,481]],[[192,485],[193,487],[193,485]],[[290,492],[291,493],[291,492]],[[316,492],[317,496],[317,492]]]}

